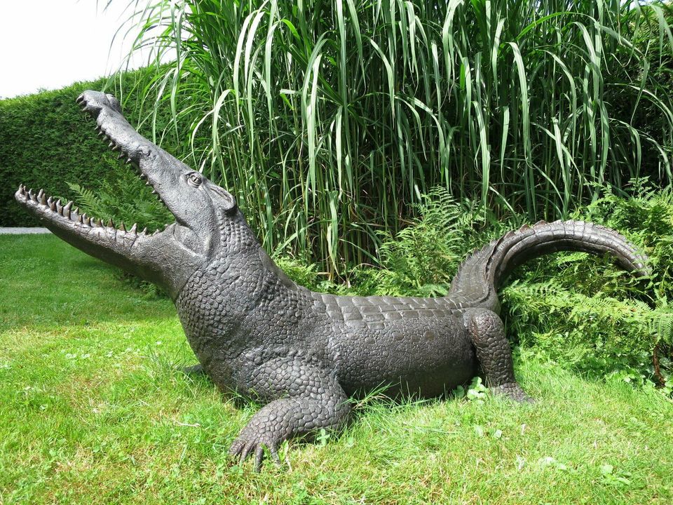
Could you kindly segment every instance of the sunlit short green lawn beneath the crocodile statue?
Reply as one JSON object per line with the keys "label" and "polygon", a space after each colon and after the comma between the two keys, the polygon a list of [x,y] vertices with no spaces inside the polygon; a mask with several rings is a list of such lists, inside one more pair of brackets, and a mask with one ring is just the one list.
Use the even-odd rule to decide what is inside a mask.
{"label": "sunlit short green lawn beneath the crocodile statue", "polygon": [[370,400],[254,474],[168,300],[53,236],[0,236],[0,278],[0,504],[673,502],[672,403],[526,358],[534,405]]}

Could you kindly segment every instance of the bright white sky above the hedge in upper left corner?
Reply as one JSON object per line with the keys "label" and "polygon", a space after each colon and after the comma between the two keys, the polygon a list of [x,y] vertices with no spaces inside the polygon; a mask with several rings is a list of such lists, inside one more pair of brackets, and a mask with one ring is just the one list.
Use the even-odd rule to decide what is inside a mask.
{"label": "bright white sky above the hedge in upper left corner", "polygon": [[[118,69],[136,32],[126,39],[123,32],[114,34],[132,11],[125,12],[129,0],[113,0],[103,10],[105,4],[107,0],[1,0],[0,98],[62,88]],[[146,63],[147,53],[139,54],[130,68]]]}

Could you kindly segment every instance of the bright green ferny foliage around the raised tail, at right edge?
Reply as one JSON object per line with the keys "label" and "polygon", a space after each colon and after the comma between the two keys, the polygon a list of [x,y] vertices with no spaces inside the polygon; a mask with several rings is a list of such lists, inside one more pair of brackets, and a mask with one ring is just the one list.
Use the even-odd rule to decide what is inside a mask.
{"label": "bright green ferny foliage around the raised tail, at right edge", "polygon": [[664,386],[673,373],[673,195],[643,180],[631,184],[634,198],[606,189],[573,217],[617,229],[638,245],[653,272],[647,282],[609,257],[573,253],[522,267],[501,297],[508,330],[522,346],[587,375]]}

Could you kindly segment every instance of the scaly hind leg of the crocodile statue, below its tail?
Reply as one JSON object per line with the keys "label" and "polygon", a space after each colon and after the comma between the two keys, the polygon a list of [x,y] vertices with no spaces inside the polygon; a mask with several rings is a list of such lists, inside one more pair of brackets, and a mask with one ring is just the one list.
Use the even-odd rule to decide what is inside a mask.
{"label": "scaly hind leg of the crocodile statue, below its tail", "polygon": [[491,391],[520,403],[532,402],[514,377],[512,349],[500,316],[488,309],[470,309],[463,315],[463,321]]}

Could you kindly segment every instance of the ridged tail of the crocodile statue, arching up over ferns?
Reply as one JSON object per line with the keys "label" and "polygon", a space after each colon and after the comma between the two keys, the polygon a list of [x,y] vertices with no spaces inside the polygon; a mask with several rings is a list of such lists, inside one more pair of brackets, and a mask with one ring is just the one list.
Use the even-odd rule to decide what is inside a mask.
{"label": "ridged tail of the crocodile statue, arching up over ferns", "polygon": [[510,231],[470,255],[458,268],[447,298],[458,307],[484,307],[498,312],[498,282],[526,260],[560,250],[611,253],[624,269],[648,274],[647,258],[612,229],[583,221],[541,221]]}

